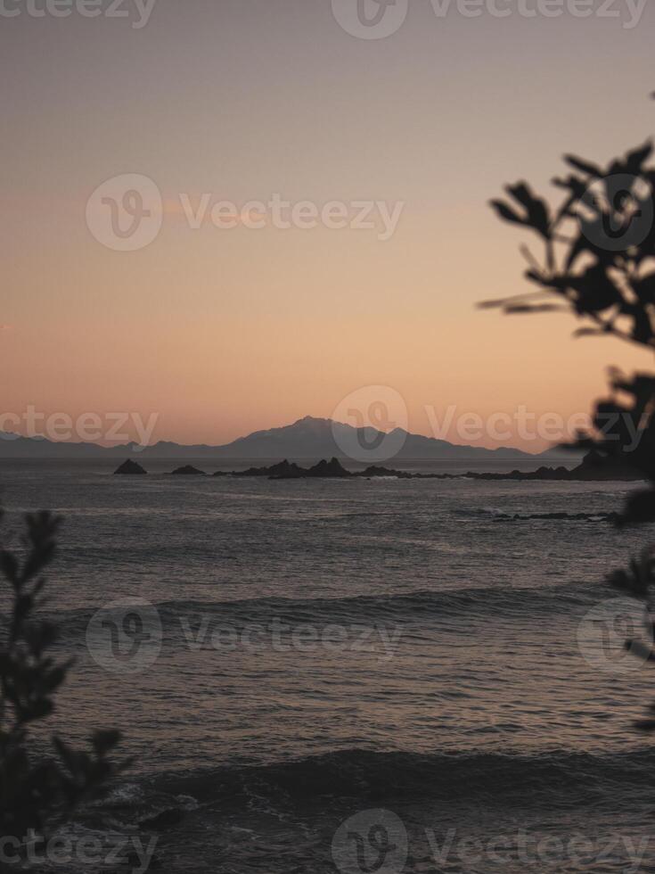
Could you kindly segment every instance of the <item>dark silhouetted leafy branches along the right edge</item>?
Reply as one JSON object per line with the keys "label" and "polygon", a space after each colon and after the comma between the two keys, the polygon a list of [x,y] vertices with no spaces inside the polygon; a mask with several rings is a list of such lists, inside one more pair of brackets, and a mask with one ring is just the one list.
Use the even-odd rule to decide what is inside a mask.
{"label": "dark silhouetted leafy branches along the right edge", "polygon": [[[574,172],[553,180],[564,191],[551,207],[525,182],[507,186],[509,201],[491,205],[505,221],[536,233],[541,261],[527,247],[526,278],[533,292],[483,307],[506,313],[569,310],[585,324],[577,336],[610,335],[655,350],[655,168],[651,142],[606,167],[567,155]],[[574,448],[601,463],[619,461],[643,474],[649,487],[632,494],[618,524],[655,521],[655,374],[610,370],[610,395],[595,404],[590,433]],[[636,435],[636,437],[635,437]],[[627,570],[610,575],[613,586],[649,605],[655,586],[655,550],[644,550]],[[643,655],[643,654],[642,654]],[[655,661],[655,655],[645,656]],[[655,713],[655,705],[651,707]],[[635,723],[655,730],[655,719]]]}

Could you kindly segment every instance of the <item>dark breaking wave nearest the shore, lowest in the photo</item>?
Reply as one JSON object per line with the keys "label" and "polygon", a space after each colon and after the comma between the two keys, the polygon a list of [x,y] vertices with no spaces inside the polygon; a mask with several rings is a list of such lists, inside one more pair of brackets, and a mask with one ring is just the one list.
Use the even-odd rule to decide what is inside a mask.
{"label": "dark breaking wave nearest the shore, lowest in the photo", "polygon": [[378,798],[430,796],[450,801],[504,800],[521,803],[556,798],[557,806],[614,799],[623,792],[650,792],[655,751],[619,754],[543,754],[377,752],[348,749],[311,758],[265,765],[225,766],[189,776],[161,775],[159,790],[184,793],[201,803],[217,796]]}

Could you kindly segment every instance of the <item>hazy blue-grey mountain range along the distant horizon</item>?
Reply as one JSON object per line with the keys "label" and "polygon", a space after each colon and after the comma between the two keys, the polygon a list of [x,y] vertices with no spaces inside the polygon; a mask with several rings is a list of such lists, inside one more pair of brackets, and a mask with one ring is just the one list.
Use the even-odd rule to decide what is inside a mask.
{"label": "hazy blue-grey mountain range along the distant horizon", "polygon": [[[144,449],[136,443],[105,448],[97,443],[56,442],[45,437],[21,437],[0,433],[0,458],[211,458],[282,459],[303,461],[317,458],[349,458],[348,447],[376,446],[381,441],[400,446],[390,458],[401,461],[485,460],[485,459],[548,459],[563,458],[561,450],[547,450],[533,455],[520,449],[501,447],[484,449],[460,446],[433,437],[403,432],[400,429],[384,434],[374,428],[356,429],[332,419],[306,416],[268,431],[256,431],[223,446],[183,445],[160,441]],[[402,445],[400,445],[402,444]]]}

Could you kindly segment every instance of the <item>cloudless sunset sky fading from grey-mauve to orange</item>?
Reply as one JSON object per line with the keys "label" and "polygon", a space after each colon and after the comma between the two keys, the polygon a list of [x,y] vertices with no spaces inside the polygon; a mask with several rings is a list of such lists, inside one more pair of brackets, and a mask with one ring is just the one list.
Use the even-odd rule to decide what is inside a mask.
{"label": "cloudless sunset sky fading from grey-mauve to orange", "polygon": [[3,413],[223,443],[381,385],[430,435],[426,409],[584,413],[651,363],[476,302],[525,287],[505,183],[557,197],[562,153],[651,135],[652,4],[409,0],[364,39],[356,0],[85,2],[0,2]]}

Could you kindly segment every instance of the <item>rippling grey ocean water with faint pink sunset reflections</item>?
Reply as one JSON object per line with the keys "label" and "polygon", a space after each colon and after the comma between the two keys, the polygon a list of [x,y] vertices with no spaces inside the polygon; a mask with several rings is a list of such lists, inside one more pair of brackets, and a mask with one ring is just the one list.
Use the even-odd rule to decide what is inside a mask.
{"label": "rippling grey ocean water with faint pink sunset reflections", "polygon": [[134,757],[71,840],[140,836],[171,874],[655,870],[655,674],[603,582],[653,535],[606,517],[634,485],[178,464],[0,463],[5,543],[64,519],[48,728]]}

